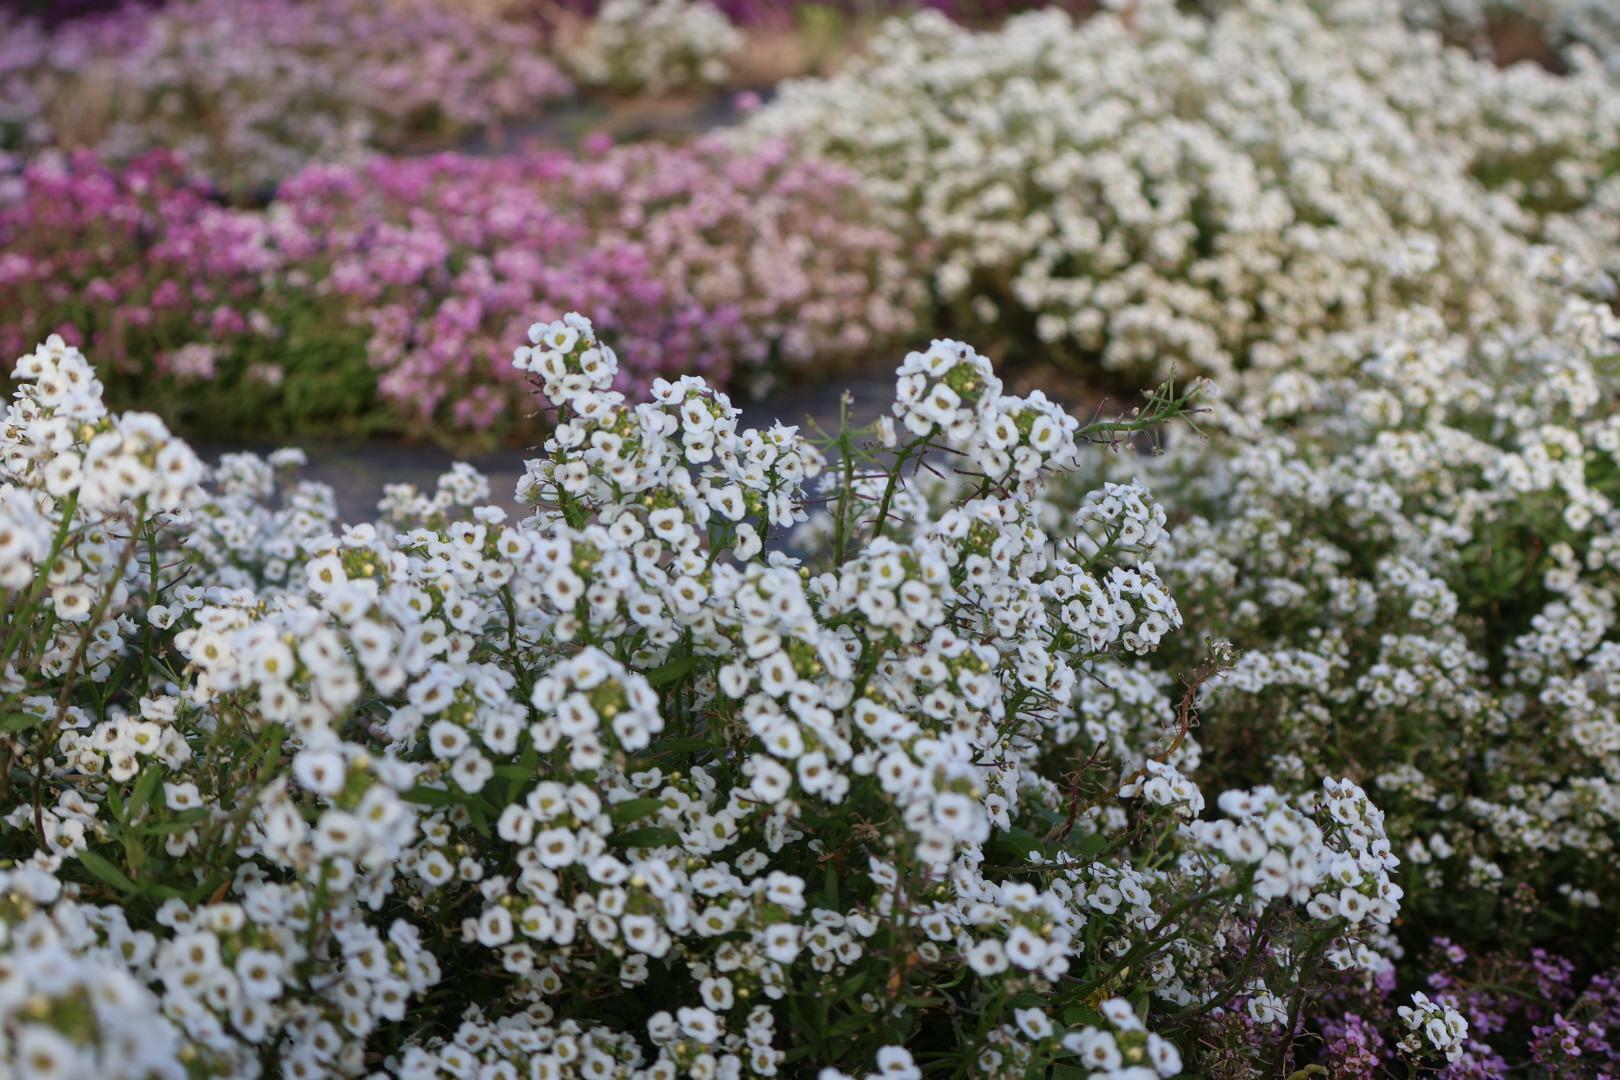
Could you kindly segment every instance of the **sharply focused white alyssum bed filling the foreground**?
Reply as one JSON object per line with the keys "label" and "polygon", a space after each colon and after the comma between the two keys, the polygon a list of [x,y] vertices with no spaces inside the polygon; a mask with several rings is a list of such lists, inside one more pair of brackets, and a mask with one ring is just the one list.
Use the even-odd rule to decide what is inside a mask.
{"label": "sharply focused white alyssum bed filling the foreground", "polygon": [[1081,427],[935,342],[818,447],[697,379],[625,402],[577,316],[531,338],[522,521],[457,470],[339,526],[296,455],[206,479],[60,340],[18,364],[0,1072],[1173,1075],[1147,1027],[1383,963],[1359,787],[1205,819],[1186,712],[1076,719],[1179,623],[1165,513],[1035,500],[1184,398]]}

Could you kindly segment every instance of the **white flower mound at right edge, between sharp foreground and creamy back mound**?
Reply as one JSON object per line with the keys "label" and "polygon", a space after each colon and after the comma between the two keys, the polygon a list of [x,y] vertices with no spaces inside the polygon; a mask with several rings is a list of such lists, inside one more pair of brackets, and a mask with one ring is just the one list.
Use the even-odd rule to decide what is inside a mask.
{"label": "white flower mound at right edge, between sharp foreground and creamy back mound", "polygon": [[1617,332],[1571,301],[1473,342],[1421,314],[1340,342],[1256,390],[1288,432],[1217,466],[1220,515],[1183,529],[1200,617],[1249,646],[1210,706],[1275,716],[1278,767],[1362,761],[1435,902],[1529,881],[1578,918],[1607,889]]}

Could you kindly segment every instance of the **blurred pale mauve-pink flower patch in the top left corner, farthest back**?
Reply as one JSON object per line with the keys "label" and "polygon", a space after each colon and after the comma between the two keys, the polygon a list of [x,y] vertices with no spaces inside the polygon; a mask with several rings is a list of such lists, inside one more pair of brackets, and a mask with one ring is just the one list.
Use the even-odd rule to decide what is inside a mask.
{"label": "blurred pale mauve-pink flower patch in the top left corner, farthest back", "polygon": [[185,152],[233,189],[543,110],[543,29],[441,0],[175,0],[44,31],[0,13],[0,147]]}

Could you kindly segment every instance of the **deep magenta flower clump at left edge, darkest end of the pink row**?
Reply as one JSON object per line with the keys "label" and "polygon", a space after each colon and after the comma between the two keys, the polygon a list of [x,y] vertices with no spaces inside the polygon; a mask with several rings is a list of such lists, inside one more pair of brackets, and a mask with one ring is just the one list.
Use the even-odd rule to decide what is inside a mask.
{"label": "deep magenta flower clump at left edge, darkest end of the pink row", "polygon": [[[318,332],[335,319],[292,288],[269,220],[219,206],[173,154],[120,168],[89,154],[42,157],[13,181],[11,198],[0,198],[6,353],[62,334],[99,351],[113,393],[178,423],[199,415],[241,429],[267,413],[288,376],[300,382],[300,358],[335,389],[337,356],[358,350],[353,334]],[[364,374],[356,359],[347,368]],[[165,385],[188,393],[175,400]],[[363,400],[329,390],[303,408],[319,423]]]}

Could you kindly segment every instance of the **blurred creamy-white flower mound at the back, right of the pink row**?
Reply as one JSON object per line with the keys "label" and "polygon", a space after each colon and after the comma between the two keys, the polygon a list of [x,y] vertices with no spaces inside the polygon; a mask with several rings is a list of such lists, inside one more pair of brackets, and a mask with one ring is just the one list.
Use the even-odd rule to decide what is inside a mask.
{"label": "blurred creamy-white flower mound at the back, right of the pink row", "polygon": [[959,324],[1131,377],[1281,368],[1414,303],[1455,327],[1555,306],[1520,267],[1610,228],[1568,225],[1612,207],[1609,79],[1500,71],[1382,0],[1221,6],[899,19],[744,138],[860,172],[935,244]]}

